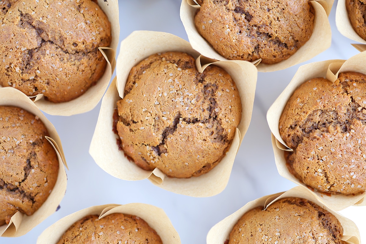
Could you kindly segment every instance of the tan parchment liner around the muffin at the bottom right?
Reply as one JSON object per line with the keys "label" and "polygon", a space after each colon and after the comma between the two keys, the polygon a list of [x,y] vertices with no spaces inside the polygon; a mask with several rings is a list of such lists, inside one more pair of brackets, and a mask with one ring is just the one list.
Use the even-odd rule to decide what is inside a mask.
{"label": "tan parchment liner around the muffin at the bottom right", "polygon": [[304,198],[318,204],[323,209],[328,210],[330,213],[335,215],[343,227],[342,240],[346,241],[348,244],[361,244],[360,233],[354,222],[330,209],[330,207],[323,203],[313,192],[306,191],[305,188],[299,186],[294,187],[286,192],[263,196],[245,204],[241,209],[224,218],[210,229],[207,234],[207,244],[223,244],[225,240],[229,239],[229,234],[236,222],[238,222],[238,220],[247,211],[258,206],[264,206],[264,209],[266,209],[266,207],[268,207],[273,202],[276,202],[281,198],[288,197]]}

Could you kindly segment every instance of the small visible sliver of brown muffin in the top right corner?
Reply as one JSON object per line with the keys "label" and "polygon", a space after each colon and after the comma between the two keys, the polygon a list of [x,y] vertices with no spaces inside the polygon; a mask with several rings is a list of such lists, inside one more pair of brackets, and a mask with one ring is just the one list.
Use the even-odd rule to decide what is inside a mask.
{"label": "small visible sliver of brown muffin in the top right corner", "polygon": [[356,33],[366,40],[366,1],[365,0],[346,0],[346,9],[348,12],[348,18]]}

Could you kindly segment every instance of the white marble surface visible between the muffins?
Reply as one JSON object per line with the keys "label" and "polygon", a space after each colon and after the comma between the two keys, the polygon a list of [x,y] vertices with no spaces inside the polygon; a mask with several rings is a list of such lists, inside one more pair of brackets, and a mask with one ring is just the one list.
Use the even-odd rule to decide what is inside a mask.
{"label": "white marble surface visible between the muffins", "polygon": [[[329,16],[333,32],[332,46],[306,63],[348,59],[358,53],[350,45],[354,42],[343,37],[336,29],[336,3],[337,1]],[[120,0],[120,41],[134,30],[165,31],[187,40],[180,22],[179,8],[180,0]],[[299,66],[259,73],[253,117],[236,156],[229,183],[221,194],[210,198],[173,194],[154,186],[148,180],[123,181],[101,170],[88,153],[100,103],[82,115],[47,116],[60,134],[69,166],[67,191],[60,204],[61,209],[25,236],[0,237],[0,244],[36,243],[38,235],[45,228],[75,211],[100,204],[133,202],[148,203],[164,209],[183,244],[206,243],[209,229],[247,202],[295,186],[277,173],[266,111]],[[358,225],[361,239],[366,243],[366,207],[349,207],[341,211],[341,214]]]}

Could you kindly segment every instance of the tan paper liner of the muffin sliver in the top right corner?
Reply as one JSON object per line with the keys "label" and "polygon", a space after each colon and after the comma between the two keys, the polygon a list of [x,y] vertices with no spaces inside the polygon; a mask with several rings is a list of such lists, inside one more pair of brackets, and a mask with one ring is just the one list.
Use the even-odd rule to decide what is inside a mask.
{"label": "tan paper liner of the muffin sliver in the top right corner", "polygon": [[351,25],[346,9],[346,0],[338,0],[336,10],[336,26],[338,31],[345,37],[357,42],[361,42],[362,44],[366,44],[366,41],[356,33]]}

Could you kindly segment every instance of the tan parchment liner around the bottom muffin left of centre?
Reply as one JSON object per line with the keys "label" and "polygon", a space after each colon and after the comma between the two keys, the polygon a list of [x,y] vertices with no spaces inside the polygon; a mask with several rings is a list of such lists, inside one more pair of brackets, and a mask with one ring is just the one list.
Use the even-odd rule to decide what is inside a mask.
{"label": "tan parchment liner around the bottom muffin left of centre", "polygon": [[67,215],[45,229],[38,237],[37,244],[57,243],[63,233],[72,224],[87,215],[100,215],[99,219],[101,219],[113,213],[136,215],[145,220],[147,224],[157,232],[164,244],[180,244],[179,234],[174,229],[164,210],[143,203],[129,203],[125,205],[107,204],[88,207],[87,209],[77,211],[73,214]]}

